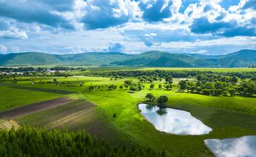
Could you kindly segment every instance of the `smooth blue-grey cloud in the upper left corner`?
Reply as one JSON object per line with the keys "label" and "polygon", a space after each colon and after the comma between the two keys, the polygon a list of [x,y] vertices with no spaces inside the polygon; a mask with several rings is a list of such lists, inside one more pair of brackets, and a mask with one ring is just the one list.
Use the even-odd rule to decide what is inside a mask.
{"label": "smooth blue-grey cloud in the upper left corner", "polygon": [[63,27],[73,29],[70,21],[60,16],[58,11],[70,8],[70,2],[67,0],[59,4],[58,1],[0,1],[0,15],[13,18],[24,23],[41,23],[53,27]]}

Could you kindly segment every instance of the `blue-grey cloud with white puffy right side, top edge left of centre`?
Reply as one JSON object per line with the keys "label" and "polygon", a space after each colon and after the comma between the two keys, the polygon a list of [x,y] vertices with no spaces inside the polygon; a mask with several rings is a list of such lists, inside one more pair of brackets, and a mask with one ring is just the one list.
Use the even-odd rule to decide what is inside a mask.
{"label": "blue-grey cloud with white puffy right side, top edge left of centre", "polygon": [[136,20],[140,11],[135,1],[90,0],[84,8],[85,16],[80,22],[87,29],[108,28],[130,20]]}

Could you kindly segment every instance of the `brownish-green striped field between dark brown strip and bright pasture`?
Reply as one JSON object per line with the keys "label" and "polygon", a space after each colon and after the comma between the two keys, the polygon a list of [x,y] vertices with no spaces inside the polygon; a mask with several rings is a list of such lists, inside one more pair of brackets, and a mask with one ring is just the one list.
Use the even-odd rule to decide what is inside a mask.
{"label": "brownish-green striped field between dark brown strip and bright pasture", "polygon": [[85,130],[97,139],[106,139],[113,146],[127,145],[126,136],[119,132],[97,105],[86,100],[41,110],[30,115],[18,117],[15,121],[31,127],[61,129],[66,132]]}

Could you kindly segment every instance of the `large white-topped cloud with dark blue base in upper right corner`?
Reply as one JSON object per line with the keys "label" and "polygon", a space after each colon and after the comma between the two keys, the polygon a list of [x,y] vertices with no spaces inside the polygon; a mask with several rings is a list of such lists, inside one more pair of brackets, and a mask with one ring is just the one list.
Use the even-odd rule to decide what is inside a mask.
{"label": "large white-topped cloud with dark blue base in upper right corner", "polygon": [[230,6],[225,10],[221,1],[200,1],[198,5],[191,4],[186,9],[184,16],[189,18],[189,28],[192,33],[235,37],[255,36],[256,27],[253,24],[252,11],[240,11],[246,1],[241,1],[238,6]]}

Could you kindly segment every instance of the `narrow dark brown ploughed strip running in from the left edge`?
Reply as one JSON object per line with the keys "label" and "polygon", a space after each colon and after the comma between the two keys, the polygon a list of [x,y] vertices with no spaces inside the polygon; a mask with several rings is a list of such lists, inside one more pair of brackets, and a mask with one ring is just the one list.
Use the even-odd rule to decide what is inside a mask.
{"label": "narrow dark brown ploughed strip running in from the left edge", "polygon": [[73,101],[74,100],[70,98],[56,98],[53,100],[47,100],[40,103],[33,103],[31,105],[17,107],[12,110],[0,112],[0,118],[4,120],[12,120],[16,117],[29,115],[31,113],[38,112],[40,110],[46,110],[46,109],[57,107],[60,105],[65,105]]}

